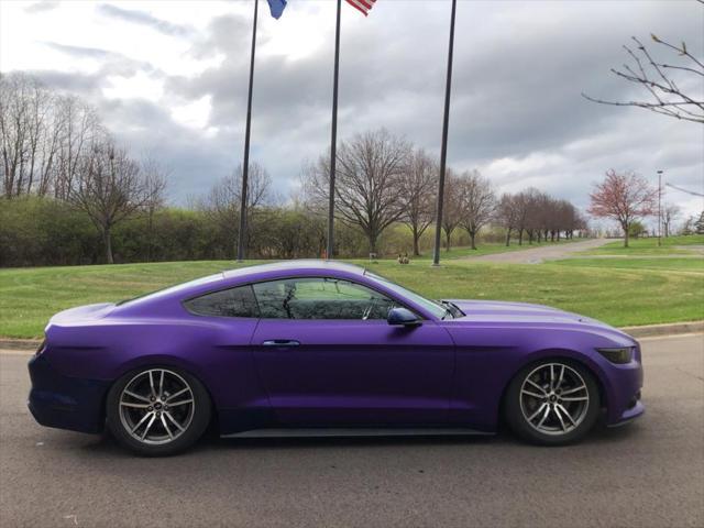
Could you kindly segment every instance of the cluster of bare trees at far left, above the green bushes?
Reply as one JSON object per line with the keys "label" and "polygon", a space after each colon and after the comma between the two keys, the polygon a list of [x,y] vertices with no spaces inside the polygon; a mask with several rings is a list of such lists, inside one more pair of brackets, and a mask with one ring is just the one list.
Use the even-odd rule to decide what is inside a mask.
{"label": "cluster of bare trees at far left, above the green bushes", "polygon": [[95,108],[31,76],[0,77],[0,139],[4,200],[36,196],[80,211],[98,231],[108,263],[114,262],[114,227],[138,211],[153,219],[163,205],[167,174],[160,163],[133,158]]}

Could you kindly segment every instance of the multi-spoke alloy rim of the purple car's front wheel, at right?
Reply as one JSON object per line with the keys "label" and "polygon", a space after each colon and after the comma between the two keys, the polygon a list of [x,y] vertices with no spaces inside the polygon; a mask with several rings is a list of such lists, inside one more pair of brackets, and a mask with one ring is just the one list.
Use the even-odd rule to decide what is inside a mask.
{"label": "multi-spoke alloy rim of the purple car's front wheel, at right", "polygon": [[519,398],[528,425],[550,436],[575,430],[590,406],[584,378],[564,363],[546,363],[534,369],[524,380]]}

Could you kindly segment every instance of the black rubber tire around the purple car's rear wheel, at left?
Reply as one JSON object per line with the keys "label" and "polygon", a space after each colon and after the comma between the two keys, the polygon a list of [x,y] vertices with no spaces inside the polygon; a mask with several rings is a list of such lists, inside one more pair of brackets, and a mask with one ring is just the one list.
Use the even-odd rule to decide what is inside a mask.
{"label": "black rubber tire around the purple car's rear wheel, at left", "polygon": [[[131,427],[129,426],[132,426],[134,421],[139,422],[140,415],[136,415],[136,418],[133,421],[130,421],[131,415],[125,417],[125,410],[123,408],[123,406],[125,406],[125,403],[124,403],[125,396],[123,394],[125,387],[128,387],[128,385],[132,383],[142,383],[140,382],[140,380],[144,376],[150,376],[150,371],[152,373],[160,373],[162,371],[167,373],[167,382],[165,383],[165,385],[169,383],[168,382],[169,378],[173,378],[172,383],[176,383],[178,381],[185,383],[186,386],[190,389],[190,392],[186,392],[185,393],[186,395],[183,397],[186,397],[186,398],[193,397],[191,404],[185,404],[185,405],[188,405],[189,407],[187,409],[187,414],[188,414],[187,422],[184,421],[180,424],[183,426],[183,430],[177,429],[177,426],[175,425],[178,422],[178,420],[172,422],[168,419],[166,419],[166,415],[168,414],[164,410],[164,408],[168,409],[168,403],[166,400],[164,400],[164,404],[163,404],[165,407],[161,407],[161,406],[158,407],[158,409],[161,410],[157,410],[155,408],[157,404],[162,403],[161,395],[158,396],[160,398],[158,402],[151,404],[151,406],[148,407],[148,410],[147,409],[134,410],[134,413],[143,411],[144,414],[148,413],[150,415],[154,415],[153,421],[157,424],[157,426],[153,426],[153,427],[158,427],[164,435],[167,429],[169,430],[168,437],[165,437],[164,435],[162,435],[164,439],[158,441],[156,440],[151,441],[148,437],[146,437],[146,441],[135,438],[133,433],[130,432],[129,429]],[[155,383],[158,383],[158,382],[155,382]],[[162,391],[163,391],[163,387],[160,388],[160,392]],[[166,392],[165,394],[168,395],[169,393]],[[178,397],[176,394],[174,394],[170,397],[172,398],[176,397],[176,399],[182,399],[182,397]],[[123,402],[122,404],[121,404],[121,399]],[[134,398],[131,402],[139,405],[150,405],[146,402],[142,404],[142,399],[138,399],[138,398]],[[177,402],[173,400],[172,405],[176,405],[176,404]],[[176,407],[173,407],[170,411],[176,413],[175,409]],[[129,411],[132,413],[132,409],[129,409]],[[184,413],[184,410],[179,410],[179,411]],[[164,418],[162,418],[161,416],[162,413],[164,414]],[[161,421],[157,421],[156,414],[160,415],[158,420],[166,421],[165,426],[163,426]],[[143,457],[167,457],[172,454],[177,454],[188,449],[194,443],[196,443],[198,439],[200,439],[202,433],[208,428],[208,425],[210,424],[210,415],[211,415],[211,402],[210,402],[210,396],[208,394],[208,391],[206,391],[204,385],[196,377],[194,377],[193,375],[188,374],[187,372],[180,369],[175,369],[172,366],[141,367],[135,371],[127,373],[112,385],[112,387],[110,388],[110,392],[108,393],[108,397],[106,402],[106,421],[107,421],[108,430],[110,431],[112,437],[121,446]],[[151,418],[147,417],[145,424],[148,424],[150,419]],[[128,421],[130,421],[130,424],[128,424]],[[145,428],[145,427],[146,425],[142,426],[142,428]],[[138,429],[138,433],[135,435],[140,436],[139,431],[143,431],[143,429]],[[174,436],[173,439],[169,438],[172,436]],[[152,443],[150,443],[150,441]],[[160,443],[156,443],[156,442],[160,442]]]}

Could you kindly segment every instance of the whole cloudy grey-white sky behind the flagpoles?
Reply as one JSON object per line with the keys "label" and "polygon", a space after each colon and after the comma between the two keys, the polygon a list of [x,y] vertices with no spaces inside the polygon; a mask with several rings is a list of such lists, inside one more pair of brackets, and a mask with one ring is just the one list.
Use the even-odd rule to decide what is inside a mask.
{"label": "whole cloudy grey-white sky behind the flagpoles", "polygon": [[[252,157],[286,195],[329,148],[334,2],[289,0],[278,21],[261,8]],[[378,0],[367,19],[342,8],[339,136],[385,127],[439,153],[449,0]],[[92,102],[121,142],[172,168],[169,198],[184,204],[242,160],[252,10],[252,0],[3,0],[0,70]],[[656,33],[704,57],[703,30],[694,0],[460,0],[449,163],[580,207],[612,167],[653,182],[663,168],[703,191],[704,127],[580,95],[637,98],[609,73],[627,58],[622,45]],[[690,91],[704,97],[704,82]]]}

